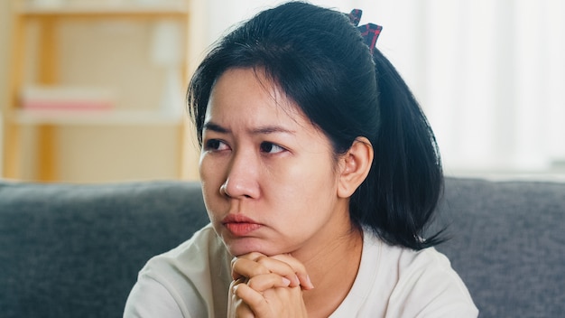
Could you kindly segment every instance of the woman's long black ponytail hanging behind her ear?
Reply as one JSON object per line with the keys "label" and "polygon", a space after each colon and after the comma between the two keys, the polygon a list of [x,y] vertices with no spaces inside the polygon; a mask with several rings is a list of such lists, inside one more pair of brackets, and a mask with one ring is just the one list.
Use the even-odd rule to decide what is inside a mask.
{"label": "woman's long black ponytail hanging behind her ear", "polygon": [[394,66],[378,50],[373,59],[382,119],[371,171],[351,200],[352,218],[389,244],[428,248],[443,241],[440,233],[422,237],[443,189],[438,145]]}

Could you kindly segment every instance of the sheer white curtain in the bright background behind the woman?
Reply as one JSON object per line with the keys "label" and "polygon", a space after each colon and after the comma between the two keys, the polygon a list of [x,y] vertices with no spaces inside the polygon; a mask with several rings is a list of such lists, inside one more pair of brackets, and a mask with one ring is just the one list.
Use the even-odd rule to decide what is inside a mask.
{"label": "sheer white curtain in the bright background behind the woman", "polygon": [[[212,0],[209,42],[283,1]],[[377,47],[421,101],[446,172],[547,172],[565,160],[565,1],[320,0],[384,26]]]}

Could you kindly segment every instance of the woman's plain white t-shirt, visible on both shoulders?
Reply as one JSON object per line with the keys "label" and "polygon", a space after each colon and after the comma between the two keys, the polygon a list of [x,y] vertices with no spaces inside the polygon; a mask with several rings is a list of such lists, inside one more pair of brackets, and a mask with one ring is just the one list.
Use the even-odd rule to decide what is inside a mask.
{"label": "woman's plain white t-shirt, visible on both shoulders", "polygon": [[[140,271],[124,317],[225,317],[231,256],[210,225]],[[356,280],[332,318],[477,317],[449,260],[435,248],[393,247],[364,231]]]}

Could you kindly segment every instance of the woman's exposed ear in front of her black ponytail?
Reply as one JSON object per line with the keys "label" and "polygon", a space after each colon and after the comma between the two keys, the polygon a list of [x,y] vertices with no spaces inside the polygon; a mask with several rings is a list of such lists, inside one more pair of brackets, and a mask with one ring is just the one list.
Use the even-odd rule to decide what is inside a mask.
{"label": "woman's exposed ear in front of her black ponytail", "polygon": [[373,164],[373,145],[366,137],[357,137],[339,158],[338,197],[348,198],[365,180]]}

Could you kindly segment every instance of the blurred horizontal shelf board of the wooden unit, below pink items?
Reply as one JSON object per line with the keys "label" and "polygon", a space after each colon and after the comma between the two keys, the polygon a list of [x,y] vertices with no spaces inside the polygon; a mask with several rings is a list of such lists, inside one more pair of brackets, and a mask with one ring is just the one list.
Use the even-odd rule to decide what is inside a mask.
{"label": "blurred horizontal shelf board of the wooden unit, below pink items", "polygon": [[155,110],[25,110],[15,112],[14,122],[19,125],[58,126],[146,126],[180,125],[178,114]]}

